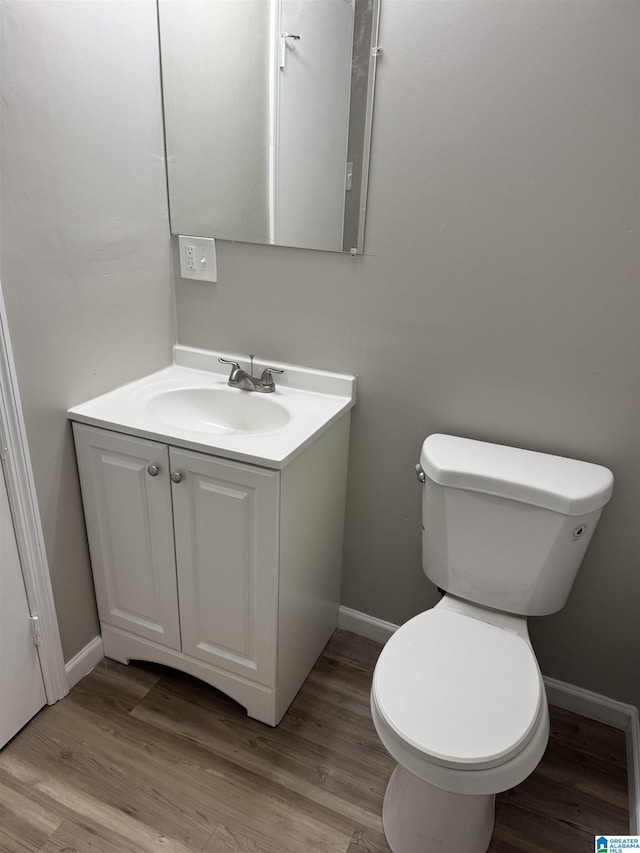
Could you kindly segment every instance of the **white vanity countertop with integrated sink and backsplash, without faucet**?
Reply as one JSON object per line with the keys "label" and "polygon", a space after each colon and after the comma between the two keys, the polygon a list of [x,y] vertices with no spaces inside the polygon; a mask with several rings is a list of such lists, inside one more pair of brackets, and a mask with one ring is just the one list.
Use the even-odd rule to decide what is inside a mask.
{"label": "white vanity countertop with integrated sink and backsplash, without faucet", "polygon": [[80,423],[267,468],[283,468],[355,402],[354,376],[254,361],[256,375],[283,368],[272,394],[229,388],[218,358],[174,348],[174,364],[69,410]]}

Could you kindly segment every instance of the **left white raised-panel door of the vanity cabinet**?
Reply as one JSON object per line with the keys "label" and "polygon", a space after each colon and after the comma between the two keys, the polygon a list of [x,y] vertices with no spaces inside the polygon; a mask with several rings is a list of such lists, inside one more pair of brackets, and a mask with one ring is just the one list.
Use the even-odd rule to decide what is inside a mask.
{"label": "left white raised-panel door of the vanity cabinet", "polygon": [[73,426],[100,620],[180,650],[168,448]]}

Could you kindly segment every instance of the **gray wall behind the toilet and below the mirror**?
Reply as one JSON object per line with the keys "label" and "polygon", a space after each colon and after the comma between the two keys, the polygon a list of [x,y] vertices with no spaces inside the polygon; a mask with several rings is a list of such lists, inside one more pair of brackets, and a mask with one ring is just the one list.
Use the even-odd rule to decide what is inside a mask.
{"label": "gray wall behind the toilet and below the mirror", "polygon": [[218,244],[181,343],[358,374],[343,603],[436,599],[413,474],[433,431],[610,466],[549,676],[640,703],[640,6],[383,2],[366,256]]}

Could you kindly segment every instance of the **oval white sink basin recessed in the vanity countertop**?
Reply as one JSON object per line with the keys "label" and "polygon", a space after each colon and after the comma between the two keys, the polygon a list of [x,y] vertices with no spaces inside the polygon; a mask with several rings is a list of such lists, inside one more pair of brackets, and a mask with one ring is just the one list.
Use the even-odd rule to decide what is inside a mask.
{"label": "oval white sink basin recessed in the vanity countertop", "polygon": [[175,388],[151,397],[146,410],[160,423],[195,432],[266,433],[291,420],[275,400],[237,388]]}

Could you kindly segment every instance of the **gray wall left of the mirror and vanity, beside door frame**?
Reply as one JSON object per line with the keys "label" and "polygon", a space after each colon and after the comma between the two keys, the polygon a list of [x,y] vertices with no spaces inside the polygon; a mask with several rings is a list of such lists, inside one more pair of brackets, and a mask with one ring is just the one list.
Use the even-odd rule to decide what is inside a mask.
{"label": "gray wall left of the mirror and vanity, beside door frame", "polygon": [[1,13],[0,274],[69,660],[98,625],[65,412],[175,338],[155,4]]}

